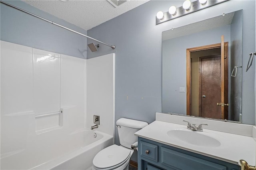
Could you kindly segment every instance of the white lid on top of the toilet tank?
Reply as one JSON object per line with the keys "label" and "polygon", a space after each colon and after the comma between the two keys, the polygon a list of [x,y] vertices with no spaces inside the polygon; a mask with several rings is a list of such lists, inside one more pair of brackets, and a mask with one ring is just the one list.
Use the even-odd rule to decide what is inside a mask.
{"label": "white lid on top of the toilet tank", "polygon": [[144,128],[148,123],[143,121],[136,121],[133,119],[120,118],[116,121],[116,125],[131,127],[131,128]]}

